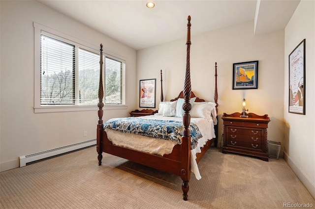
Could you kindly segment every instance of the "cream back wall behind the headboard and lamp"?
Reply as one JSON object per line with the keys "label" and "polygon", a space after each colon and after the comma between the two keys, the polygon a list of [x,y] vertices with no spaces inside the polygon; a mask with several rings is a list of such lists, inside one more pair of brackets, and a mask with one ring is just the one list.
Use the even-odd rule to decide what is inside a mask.
{"label": "cream back wall behind the headboard and lamp", "polygon": [[[183,22],[183,27],[186,27]],[[193,32],[193,17],[191,31]],[[215,62],[218,63],[219,140],[221,115],[242,111],[243,98],[249,112],[268,114],[271,122],[268,140],[284,138],[284,30],[253,35],[254,23],[247,22],[191,36],[190,71],[192,91],[213,101]],[[164,72],[164,101],[178,96],[183,89],[186,70],[186,39],[137,51],[137,80],[157,78]],[[258,89],[232,90],[233,63],[258,60]],[[138,84],[139,85],[139,84]],[[158,105],[157,105],[158,107]]]}

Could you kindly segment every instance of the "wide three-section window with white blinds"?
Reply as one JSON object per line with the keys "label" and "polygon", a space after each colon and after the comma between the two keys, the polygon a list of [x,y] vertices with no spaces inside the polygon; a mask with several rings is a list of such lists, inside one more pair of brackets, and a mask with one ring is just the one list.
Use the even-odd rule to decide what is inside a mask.
{"label": "wide three-section window with white blinds", "polygon": [[[39,65],[35,64],[35,112],[97,109],[99,52],[36,26],[34,23],[40,52],[35,55],[35,63],[39,57]],[[125,105],[125,61],[104,52],[103,60],[103,103],[105,107]]]}

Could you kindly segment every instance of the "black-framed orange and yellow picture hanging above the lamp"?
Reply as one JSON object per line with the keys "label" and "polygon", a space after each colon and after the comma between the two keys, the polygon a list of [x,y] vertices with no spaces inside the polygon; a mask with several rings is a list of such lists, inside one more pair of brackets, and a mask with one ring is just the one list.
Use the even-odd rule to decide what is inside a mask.
{"label": "black-framed orange and yellow picture hanging above the lamp", "polygon": [[233,89],[258,88],[258,60],[233,63]]}

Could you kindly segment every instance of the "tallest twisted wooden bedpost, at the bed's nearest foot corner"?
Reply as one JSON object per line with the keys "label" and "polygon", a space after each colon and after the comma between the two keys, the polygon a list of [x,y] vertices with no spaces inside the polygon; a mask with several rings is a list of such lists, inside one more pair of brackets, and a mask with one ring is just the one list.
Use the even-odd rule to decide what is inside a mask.
{"label": "tallest twisted wooden bedpost, at the bed's nearest foot corner", "polygon": [[187,56],[186,56],[186,74],[185,74],[185,82],[184,82],[184,99],[185,103],[183,104],[183,110],[185,111],[183,115],[183,123],[184,123],[184,131],[182,137],[182,160],[181,160],[181,179],[183,181],[182,190],[183,190],[183,199],[188,199],[188,191],[189,191],[189,179],[190,179],[190,114],[191,110],[190,95],[191,95],[191,82],[190,82],[190,16],[188,16],[188,24],[187,24]]}

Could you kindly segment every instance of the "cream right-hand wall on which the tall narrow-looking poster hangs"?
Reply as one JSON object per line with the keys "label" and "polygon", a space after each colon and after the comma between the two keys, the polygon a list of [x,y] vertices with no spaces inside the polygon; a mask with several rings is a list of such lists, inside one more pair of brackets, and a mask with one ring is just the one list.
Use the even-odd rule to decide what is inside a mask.
{"label": "cream right-hand wall on which the tall narrow-looking poster hangs", "polygon": [[[288,113],[288,56],[306,39],[305,115]],[[285,27],[284,157],[315,197],[315,1],[301,0]]]}

